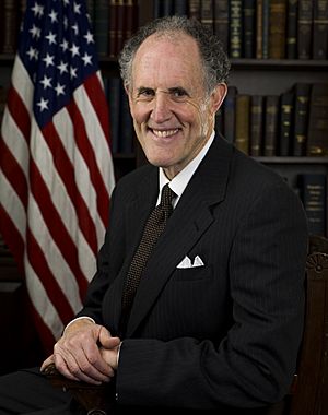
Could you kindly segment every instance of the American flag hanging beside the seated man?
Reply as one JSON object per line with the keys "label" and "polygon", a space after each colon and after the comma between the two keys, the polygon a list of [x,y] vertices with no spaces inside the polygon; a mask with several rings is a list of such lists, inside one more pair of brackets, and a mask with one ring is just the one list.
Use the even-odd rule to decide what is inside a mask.
{"label": "American flag hanging beside the seated man", "polygon": [[82,0],[27,0],[0,139],[0,233],[46,351],[80,309],[114,187],[108,108]]}

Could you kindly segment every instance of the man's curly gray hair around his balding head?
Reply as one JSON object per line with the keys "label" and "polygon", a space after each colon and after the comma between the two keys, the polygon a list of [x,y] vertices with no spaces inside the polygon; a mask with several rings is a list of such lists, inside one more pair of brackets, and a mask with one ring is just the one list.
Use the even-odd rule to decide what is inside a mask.
{"label": "man's curly gray hair around his balding head", "polygon": [[191,36],[199,47],[207,94],[210,95],[219,83],[225,82],[230,61],[221,40],[196,19],[174,15],[150,22],[126,42],[118,59],[124,84],[127,87],[131,84],[133,59],[143,40],[153,34],[176,36],[179,33]]}

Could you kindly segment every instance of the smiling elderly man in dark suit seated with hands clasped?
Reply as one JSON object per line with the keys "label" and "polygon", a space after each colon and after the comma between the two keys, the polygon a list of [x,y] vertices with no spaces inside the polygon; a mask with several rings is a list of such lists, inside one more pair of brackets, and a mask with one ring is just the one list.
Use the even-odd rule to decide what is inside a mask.
{"label": "smiling elderly man in dark suit seated with hands clasped", "polygon": [[[118,412],[263,414],[289,391],[302,339],[301,202],[214,133],[230,66],[200,23],[154,21],[119,62],[149,164],[119,180],[85,305],[43,369],[109,382]],[[25,390],[4,393],[17,379]],[[74,413],[38,372],[0,386],[0,413]]]}

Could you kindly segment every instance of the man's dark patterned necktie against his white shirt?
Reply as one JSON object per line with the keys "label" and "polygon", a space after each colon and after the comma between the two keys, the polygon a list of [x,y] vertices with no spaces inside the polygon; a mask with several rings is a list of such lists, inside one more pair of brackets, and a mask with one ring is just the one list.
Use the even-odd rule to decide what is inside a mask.
{"label": "man's dark patterned necktie against his white shirt", "polygon": [[126,324],[128,322],[129,313],[142,272],[156,240],[165,228],[168,216],[173,212],[172,201],[175,195],[176,194],[169,189],[168,185],[165,185],[162,189],[160,204],[152,211],[145,223],[141,240],[132,259],[124,288],[121,299],[120,333],[125,333]]}

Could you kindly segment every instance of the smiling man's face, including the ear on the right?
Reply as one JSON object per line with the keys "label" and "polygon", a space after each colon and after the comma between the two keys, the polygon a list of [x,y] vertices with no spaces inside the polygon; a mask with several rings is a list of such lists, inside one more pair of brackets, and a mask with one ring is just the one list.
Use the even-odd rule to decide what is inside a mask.
{"label": "smiling man's face, including the ear on the right", "polygon": [[138,140],[148,161],[176,176],[203,147],[223,97],[220,85],[206,99],[196,42],[150,36],[136,54],[128,91]]}

